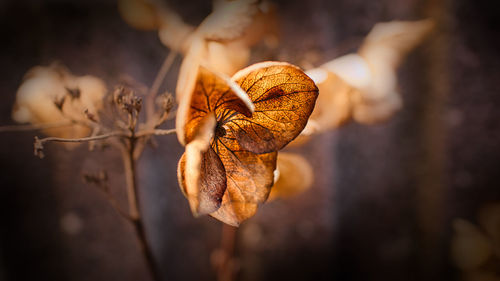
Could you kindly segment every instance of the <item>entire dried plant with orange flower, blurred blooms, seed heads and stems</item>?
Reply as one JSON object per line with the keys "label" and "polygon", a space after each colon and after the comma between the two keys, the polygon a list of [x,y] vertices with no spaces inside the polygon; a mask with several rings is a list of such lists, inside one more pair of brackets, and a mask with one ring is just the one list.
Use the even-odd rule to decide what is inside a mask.
{"label": "entire dried plant with orange flower, blurred blooms, seed heads and stems", "polygon": [[[350,118],[367,124],[380,122],[401,107],[396,68],[432,28],[427,20],[378,24],[357,54],[335,59],[306,75],[283,62],[244,68],[251,47],[276,36],[275,10],[265,1],[216,0],[213,12],[198,27],[186,24],[162,1],[118,2],[129,25],[157,30],[170,49],[151,88],[118,85],[109,93],[99,78],[75,76],[60,64],[37,66],[26,74],[13,110],[16,122],[31,124],[0,131],[40,129],[47,135],[35,137],[34,151],[40,157],[47,142],[89,142],[92,149],[101,141],[120,151],[127,211],[109,193],[105,171],[84,178],[103,191],[134,226],[156,280],[158,271],[143,226],[136,180],[136,160],[152,136],[176,132],[185,145],[178,178],[193,215],[209,214],[238,226],[269,196],[291,197],[313,184],[314,174],[304,157],[278,156],[299,134],[338,128]],[[158,92],[177,53],[184,59],[174,99]],[[175,129],[159,129],[174,115]],[[222,248],[234,248],[234,231],[225,228],[233,245]],[[230,254],[222,256],[225,259],[218,263],[218,271],[231,276],[223,266]]]}

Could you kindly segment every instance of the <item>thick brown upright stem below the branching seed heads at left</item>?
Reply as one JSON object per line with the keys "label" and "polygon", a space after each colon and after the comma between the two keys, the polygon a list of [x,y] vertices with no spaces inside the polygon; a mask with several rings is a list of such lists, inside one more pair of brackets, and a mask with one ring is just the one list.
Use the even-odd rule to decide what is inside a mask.
{"label": "thick brown upright stem below the branching seed heads at left", "polygon": [[134,150],[135,150],[136,138],[131,137],[128,139],[128,145],[122,149],[122,157],[125,169],[125,176],[127,182],[127,196],[129,203],[129,212],[134,226],[134,230],[137,236],[137,240],[140,244],[141,251],[146,259],[151,277],[153,280],[160,280],[158,275],[158,268],[155,263],[153,252],[151,251],[151,244],[146,237],[146,231],[144,229],[144,223],[140,213],[139,207],[139,191],[137,188],[137,169],[135,166]]}

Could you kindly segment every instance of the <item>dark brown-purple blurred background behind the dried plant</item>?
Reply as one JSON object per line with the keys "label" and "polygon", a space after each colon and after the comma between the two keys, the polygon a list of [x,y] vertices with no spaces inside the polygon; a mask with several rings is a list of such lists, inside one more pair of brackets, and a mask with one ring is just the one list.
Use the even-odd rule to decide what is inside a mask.
{"label": "dark brown-purple blurred background behind the dried plant", "polygon": [[[252,62],[310,68],[356,51],[377,22],[432,17],[438,25],[399,69],[404,107],[388,122],[349,123],[289,149],[310,160],[314,185],[263,205],[239,228],[236,279],[469,278],[451,255],[454,221],[478,225],[478,211],[500,203],[496,2],[275,3],[279,45],[258,45]],[[172,6],[192,24],[211,9],[201,0]],[[1,125],[13,123],[16,90],[34,65],[58,60],[111,89],[124,75],[151,85],[168,54],[156,32],[128,26],[111,0],[4,0],[0,22]],[[164,89],[175,89],[180,62]],[[82,179],[106,169],[113,194],[126,206],[119,153],[48,144],[40,160],[33,156],[34,135],[0,135],[0,280],[150,280],[132,227]],[[211,260],[221,223],[192,217],[176,177],[183,148],[173,135],[157,140],[158,148],[140,159],[139,183],[162,279],[215,280]],[[500,237],[492,239],[500,244]],[[500,280],[498,256],[487,268],[493,279],[481,280]]]}

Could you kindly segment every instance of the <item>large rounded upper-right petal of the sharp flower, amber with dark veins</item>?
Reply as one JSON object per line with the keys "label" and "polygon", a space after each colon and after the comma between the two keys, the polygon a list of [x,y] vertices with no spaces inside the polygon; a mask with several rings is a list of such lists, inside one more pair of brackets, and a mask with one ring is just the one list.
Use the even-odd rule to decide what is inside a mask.
{"label": "large rounded upper-right petal of the sharp flower, amber with dark veins", "polygon": [[255,105],[251,118],[242,114],[223,122],[240,145],[254,153],[283,148],[304,129],[318,88],[299,68],[278,62],[254,64],[233,76]]}

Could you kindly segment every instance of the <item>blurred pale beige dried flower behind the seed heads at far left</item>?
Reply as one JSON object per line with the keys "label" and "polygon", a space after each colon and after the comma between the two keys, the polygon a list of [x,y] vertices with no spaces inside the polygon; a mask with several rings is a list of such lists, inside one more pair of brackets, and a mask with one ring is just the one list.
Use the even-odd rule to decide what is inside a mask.
{"label": "blurred pale beige dried flower behind the seed heads at far left", "polygon": [[[28,71],[17,90],[12,118],[19,123],[57,123],[97,119],[106,86],[93,76],[74,76],[58,64],[36,66]],[[78,138],[90,129],[81,124],[44,129],[50,136]]]}

